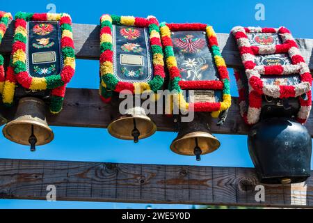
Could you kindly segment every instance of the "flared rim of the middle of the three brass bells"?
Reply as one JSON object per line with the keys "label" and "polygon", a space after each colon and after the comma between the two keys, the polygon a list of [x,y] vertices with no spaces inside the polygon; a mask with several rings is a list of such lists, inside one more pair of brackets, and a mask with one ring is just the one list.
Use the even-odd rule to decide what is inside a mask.
{"label": "flared rim of the middle of the three brass bells", "polygon": [[136,118],[136,119],[141,119],[141,120],[144,120],[144,121],[147,121],[147,123],[150,123],[150,125],[152,125],[152,128],[151,128],[151,131],[148,132],[147,134],[141,134],[138,139],[145,139],[147,137],[150,137],[152,136],[152,134],[154,134],[156,131],[157,131],[157,125],[155,125],[154,121],[152,121],[152,119],[148,116],[143,116],[143,115],[131,115],[131,114],[125,114],[125,115],[122,115],[118,118],[116,118],[115,120],[113,120],[111,123],[109,123],[108,125],[108,132],[111,134],[111,136],[115,137],[115,138],[118,138],[118,139],[124,139],[124,140],[134,140],[134,137],[132,136],[123,136],[123,135],[120,135],[120,134],[115,134],[112,130],[112,126],[117,123],[118,121],[120,121],[121,119],[133,119],[133,118]]}

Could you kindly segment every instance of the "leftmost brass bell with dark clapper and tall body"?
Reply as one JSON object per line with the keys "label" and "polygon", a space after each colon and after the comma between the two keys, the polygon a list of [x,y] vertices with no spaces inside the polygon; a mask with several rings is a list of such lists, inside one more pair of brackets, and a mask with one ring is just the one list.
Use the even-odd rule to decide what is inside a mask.
{"label": "leftmost brass bell with dark clapper and tall body", "polygon": [[35,146],[48,144],[54,139],[45,117],[45,102],[39,98],[26,97],[19,100],[13,121],[4,126],[3,135],[17,144]]}

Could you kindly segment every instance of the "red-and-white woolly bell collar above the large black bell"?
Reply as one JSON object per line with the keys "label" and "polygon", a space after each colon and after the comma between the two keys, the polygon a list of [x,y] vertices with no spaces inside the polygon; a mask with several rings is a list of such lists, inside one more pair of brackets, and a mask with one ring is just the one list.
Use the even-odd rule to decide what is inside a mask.
{"label": "red-and-white woolly bell collar above the large black bell", "polygon": [[[300,110],[297,120],[305,123],[312,104],[312,77],[290,31],[285,27],[274,29],[236,26],[232,29],[232,34],[239,47],[248,79],[249,89],[244,89],[243,74],[235,70],[241,116],[246,123],[252,125],[259,121],[262,95],[273,98],[298,98]],[[298,74],[300,79],[289,84],[284,83],[285,79],[276,79],[277,81],[268,84],[262,78],[274,75],[286,78],[294,74]]]}

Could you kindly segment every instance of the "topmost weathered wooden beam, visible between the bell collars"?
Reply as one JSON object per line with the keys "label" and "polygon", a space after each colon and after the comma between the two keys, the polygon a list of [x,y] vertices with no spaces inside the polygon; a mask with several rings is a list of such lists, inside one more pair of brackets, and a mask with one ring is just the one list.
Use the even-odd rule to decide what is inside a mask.
{"label": "topmost weathered wooden beam, visible between the bell collars", "polygon": [[[12,48],[13,25],[10,22],[8,31],[2,40],[0,52],[9,54]],[[78,59],[99,59],[99,25],[94,24],[73,24],[73,36],[75,52]],[[234,68],[242,66],[236,43],[229,33],[217,33],[218,43],[222,51],[227,67]],[[296,42],[300,47],[305,61],[309,63],[310,70],[313,70],[313,40],[297,38]]]}

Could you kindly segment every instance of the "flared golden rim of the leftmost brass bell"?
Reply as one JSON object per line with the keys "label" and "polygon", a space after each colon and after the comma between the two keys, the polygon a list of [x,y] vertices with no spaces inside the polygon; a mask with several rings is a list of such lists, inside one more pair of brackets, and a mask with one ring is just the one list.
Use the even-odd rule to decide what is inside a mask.
{"label": "flared golden rim of the leftmost brass bell", "polygon": [[27,121],[14,120],[14,121],[10,121],[9,123],[7,123],[3,127],[2,133],[3,133],[4,137],[6,137],[6,139],[9,139],[10,141],[14,141],[17,144],[21,144],[21,145],[24,145],[24,146],[29,146],[30,145],[29,143],[25,144],[22,141],[16,141],[12,137],[10,137],[9,134],[7,134],[7,132],[8,132],[7,129],[10,128],[11,125],[15,125],[15,124],[35,125],[35,126],[38,126],[40,128],[44,128],[45,130],[47,130],[47,132],[49,132],[48,139],[45,140],[45,141],[42,141],[42,143],[40,143],[40,142],[36,143],[36,146],[42,146],[42,145],[45,145],[45,144],[49,144],[49,142],[54,140],[54,132],[52,132],[52,130],[51,130],[51,128],[49,128],[49,126],[47,126],[47,125],[45,125],[43,123],[40,123],[40,122],[29,123]]}

